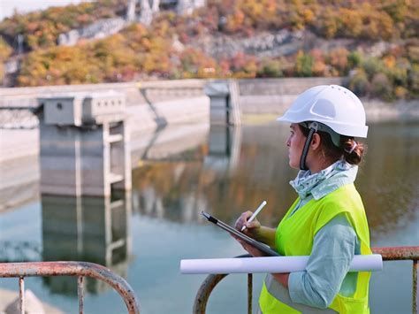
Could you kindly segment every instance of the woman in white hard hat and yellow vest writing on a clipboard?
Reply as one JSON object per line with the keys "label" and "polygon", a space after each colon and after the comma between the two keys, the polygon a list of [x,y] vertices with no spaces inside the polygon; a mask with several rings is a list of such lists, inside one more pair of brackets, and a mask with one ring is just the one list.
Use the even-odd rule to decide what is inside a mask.
{"label": "woman in white hard hat and yellow vest writing on a clipboard", "polygon": [[[355,254],[371,254],[369,227],[354,188],[367,137],[361,101],[347,88],[317,86],[303,92],[284,116],[289,165],[300,169],[290,182],[298,193],[276,229],[247,223],[235,227],[283,256],[310,256],[304,272],[268,274],[259,307],[268,313],[369,313],[369,272],[348,272]],[[241,242],[253,256],[261,252]]]}

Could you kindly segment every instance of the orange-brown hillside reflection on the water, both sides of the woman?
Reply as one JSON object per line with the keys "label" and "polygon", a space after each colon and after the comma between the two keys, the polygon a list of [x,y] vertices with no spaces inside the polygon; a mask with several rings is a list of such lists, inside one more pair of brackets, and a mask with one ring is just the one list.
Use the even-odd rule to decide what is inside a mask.
{"label": "orange-brown hillside reflection on the water, both sides of the woman", "polygon": [[[209,130],[195,148],[202,159],[154,163],[133,170],[135,211],[175,221],[202,221],[211,211],[231,221],[268,201],[261,220],[278,223],[295,193],[288,181],[288,126],[269,124]],[[417,218],[417,122],[387,122],[369,128],[368,153],[355,182],[365,203],[372,239]],[[208,147],[205,147],[208,145]],[[198,151],[200,153],[198,153]],[[191,153],[191,152],[190,152]]]}

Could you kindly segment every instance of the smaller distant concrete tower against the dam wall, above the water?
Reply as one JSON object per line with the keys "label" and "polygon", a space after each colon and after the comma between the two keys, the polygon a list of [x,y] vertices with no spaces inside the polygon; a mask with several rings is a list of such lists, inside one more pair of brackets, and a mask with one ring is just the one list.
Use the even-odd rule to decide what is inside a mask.
{"label": "smaller distant concrete tower against the dam wall, above the water", "polygon": [[209,81],[204,88],[209,96],[209,123],[211,125],[239,126],[240,93],[236,80]]}

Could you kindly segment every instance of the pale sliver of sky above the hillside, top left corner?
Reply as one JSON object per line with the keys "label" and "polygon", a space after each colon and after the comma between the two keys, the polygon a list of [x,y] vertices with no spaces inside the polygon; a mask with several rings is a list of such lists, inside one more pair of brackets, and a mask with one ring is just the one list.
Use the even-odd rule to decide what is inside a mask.
{"label": "pale sliver of sky above the hillside, top left corner", "polygon": [[20,13],[43,10],[50,6],[79,4],[83,0],[0,0],[0,20],[9,17],[16,9]]}

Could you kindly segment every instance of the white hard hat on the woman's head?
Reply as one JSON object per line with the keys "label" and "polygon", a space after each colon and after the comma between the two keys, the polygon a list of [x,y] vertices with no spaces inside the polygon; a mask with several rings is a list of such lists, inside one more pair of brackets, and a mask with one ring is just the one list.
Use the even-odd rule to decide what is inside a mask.
{"label": "white hard hat on the woman's head", "polygon": [[290,123],[316,121],[347,136],[367,137],[368,133],[361,101],[349,89],[339,85],[307,89],[277,120]]}

